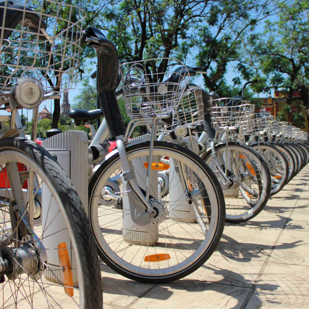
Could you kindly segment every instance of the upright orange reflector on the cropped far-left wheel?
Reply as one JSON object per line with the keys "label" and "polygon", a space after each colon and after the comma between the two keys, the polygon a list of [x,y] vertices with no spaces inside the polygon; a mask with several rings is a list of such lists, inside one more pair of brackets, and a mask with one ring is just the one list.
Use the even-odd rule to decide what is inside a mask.
{"label": "upright orange reflector on the cropped far-left wheel", "polygon": [[69,253],[66,247],[66,242],[59,243],[58,258],[60,268],[62,268],[61,277],[62,277],[62,284],[64,285],[64,291],[67,295],[72,297],[74,295],[73,276],[72,276]]}

